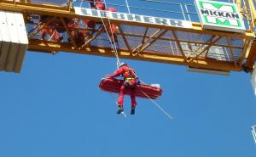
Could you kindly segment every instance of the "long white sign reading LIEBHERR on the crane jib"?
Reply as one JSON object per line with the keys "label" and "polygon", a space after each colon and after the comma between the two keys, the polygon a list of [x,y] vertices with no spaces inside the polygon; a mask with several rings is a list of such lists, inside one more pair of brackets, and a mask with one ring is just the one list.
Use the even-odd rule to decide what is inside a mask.
{"label": "long white sign reading LIEBHERR on the crane jib", "polygon": [[192,27],[192,23],[187,20],[172,20],[172,19],[158,18],[153,16],[144,16],[144,15],[138,15],[138,14],[108,12],[108,11],[96,10],[96,9],[90,9],[90,8],[74,7],[74,9],[75,9],[75,14],[85,15],[85,16],[109,18],[112,20],[125,20],[125,21],[147,23],[147,24],[154,24],[154,25],[169,25],[169,26],[176,26],[176,27],[183,27],[183,28]]}

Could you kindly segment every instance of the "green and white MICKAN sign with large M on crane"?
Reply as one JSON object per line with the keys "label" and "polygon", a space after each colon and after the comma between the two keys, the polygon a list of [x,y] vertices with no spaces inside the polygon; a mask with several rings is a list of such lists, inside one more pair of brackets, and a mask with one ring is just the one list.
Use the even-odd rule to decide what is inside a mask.
{"label": "green and white MICKAN sign with large M on crane", "polygon": [[195,5],[204,28],[219,31],[246,31],[236,3],[195,0]]}

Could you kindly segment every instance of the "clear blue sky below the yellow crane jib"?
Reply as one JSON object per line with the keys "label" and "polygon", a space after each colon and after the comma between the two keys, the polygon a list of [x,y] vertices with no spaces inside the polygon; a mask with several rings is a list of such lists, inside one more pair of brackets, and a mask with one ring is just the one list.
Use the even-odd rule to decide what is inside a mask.
{"label": "clear blue sky below the yellow crane jib", "polygon": [[[26,53],[20,74],[0,73],[0,157],[255,157],[250,127],[256,99],[244,72],[191,73],[185,66],[123,60],[157,102],[137,99],[136,115],[116,115],[116,94],[102,92],[115,59]],[[125,111],[130,112],[125,97]]]}

